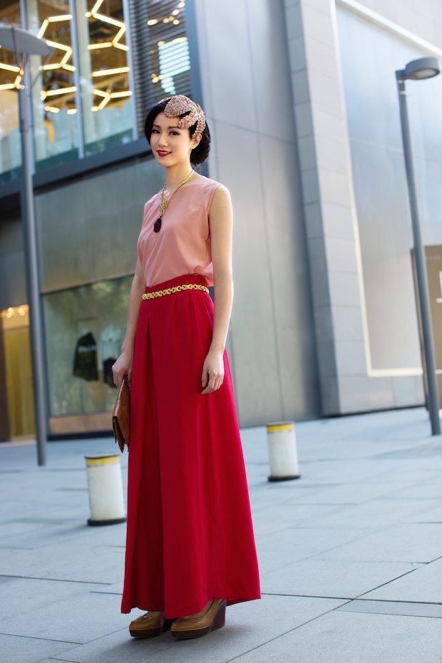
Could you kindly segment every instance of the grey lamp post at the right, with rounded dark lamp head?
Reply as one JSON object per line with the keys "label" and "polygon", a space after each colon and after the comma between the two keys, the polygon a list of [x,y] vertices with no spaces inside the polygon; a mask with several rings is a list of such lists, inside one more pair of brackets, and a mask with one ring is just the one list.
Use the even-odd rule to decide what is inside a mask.
{"label": "grey lamp post at the right, with rounded dark lamp head", "polygon": [[404,143],[404,159],[406,180],[408,185],[408,199],[410,202],[411,225],[413,228],[413,257],[416,268],[416,282],[418,288],[418,304],[421,312],[422,345],[424,359],[424,379],[426,379],[428,393],[428,411],[431,419],[431,434],[441,434],[441,420],[439,418],[439,396],[436,381],[436,362],[434,360],[433,331],[431,327],[430,307],[428,303],[428,279],[426,275],[425,254],[423,252],[421,226],[418,216],[418,202],[416,195],[416,181],[414,178],[413,156],[411,152],[410,127],[408,123],[408,108],[406,103],[405,81],[423,81],[440,73],[436,58],[419,58],[408,62],[405,69],[396,71],[396,82],[399,93],[399,108],[401,113],[402,140]]}

